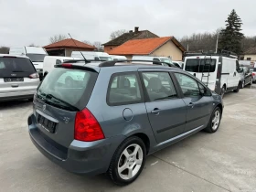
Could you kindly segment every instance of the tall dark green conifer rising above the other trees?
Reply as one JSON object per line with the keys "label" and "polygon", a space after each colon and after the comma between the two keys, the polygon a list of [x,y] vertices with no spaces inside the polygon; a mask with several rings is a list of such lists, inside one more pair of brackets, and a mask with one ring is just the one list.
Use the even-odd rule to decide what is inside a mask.
{"label": "tall dark green conifer rising above the other trees", "polygon": [[227,23],[226,28],[219,34],[219,49],[229,50],[240,55],[242,53],[241,40],[244,38],[240,32],[242,30],[240,16],[233,9],[225,22]]}

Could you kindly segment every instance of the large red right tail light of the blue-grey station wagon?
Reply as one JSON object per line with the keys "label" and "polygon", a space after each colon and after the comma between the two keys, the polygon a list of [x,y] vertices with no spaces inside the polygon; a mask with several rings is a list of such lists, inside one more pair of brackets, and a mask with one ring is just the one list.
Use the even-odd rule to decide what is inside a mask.
{"label": "large red right tail light of the blue-grey station wagon", "polygon": [[83,142],[92,142],[105,138],[101,125],[86,108],[76,114],[74,135],[76,140]]}

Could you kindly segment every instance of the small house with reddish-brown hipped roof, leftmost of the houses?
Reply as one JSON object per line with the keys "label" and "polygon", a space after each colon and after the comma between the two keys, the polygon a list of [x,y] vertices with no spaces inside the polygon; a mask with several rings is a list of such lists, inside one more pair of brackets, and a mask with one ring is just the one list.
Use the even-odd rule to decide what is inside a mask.
{"label": "small house with reddish-brown hipped roof, leftmost of the houses", "polygon": [[76,39],[67,38],[59,42],[45,46],[49,56],[66,56],[70,57],[74,50],[93,51],[96,48]]}

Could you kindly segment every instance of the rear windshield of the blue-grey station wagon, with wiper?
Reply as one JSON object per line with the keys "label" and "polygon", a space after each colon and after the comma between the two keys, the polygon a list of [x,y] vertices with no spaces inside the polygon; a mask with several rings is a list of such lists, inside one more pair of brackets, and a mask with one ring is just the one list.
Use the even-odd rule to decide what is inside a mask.
{"label": "rear windshield of the blue-grey station wagon, with wiper", "polygon": [[91,97],[98,73],[80,69],[53,69],[37,88],[37,99],[68,111],[80,111]]}

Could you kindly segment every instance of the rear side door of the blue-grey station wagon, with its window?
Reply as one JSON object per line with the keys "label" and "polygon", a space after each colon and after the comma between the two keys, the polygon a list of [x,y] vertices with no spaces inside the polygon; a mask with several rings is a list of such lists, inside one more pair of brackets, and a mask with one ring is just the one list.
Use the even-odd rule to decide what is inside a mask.
{"label": "rear side door of the blue-grey station wagon, with its window", "polygon": [[157,143],[184,133],[186,105],[176,91],[169,72],[142,71],[145,107]]}

